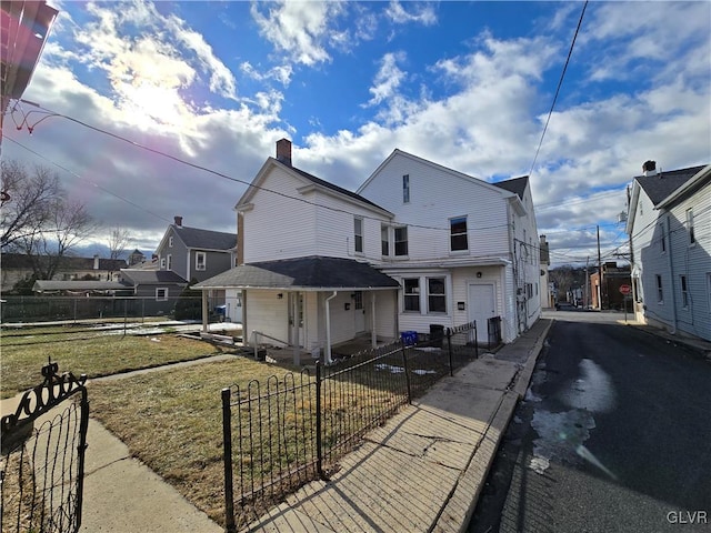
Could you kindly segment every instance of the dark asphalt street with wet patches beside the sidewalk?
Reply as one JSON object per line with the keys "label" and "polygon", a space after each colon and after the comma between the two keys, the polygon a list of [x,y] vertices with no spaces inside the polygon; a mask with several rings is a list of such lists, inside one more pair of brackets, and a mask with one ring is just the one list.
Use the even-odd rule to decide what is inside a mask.
{"label": "dark asphalt street with wet patches beside the sidewalk", "polygon": [[711,364],[557,320],[470,533],[711,531]]}

